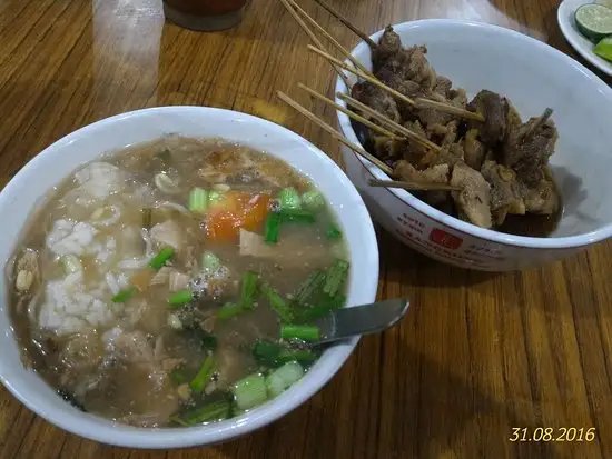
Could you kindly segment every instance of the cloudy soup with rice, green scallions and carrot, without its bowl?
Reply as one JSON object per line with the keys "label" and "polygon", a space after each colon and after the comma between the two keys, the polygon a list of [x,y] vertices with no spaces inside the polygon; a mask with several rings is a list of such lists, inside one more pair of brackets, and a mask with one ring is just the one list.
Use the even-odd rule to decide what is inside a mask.
{"label": "cloudy soup with rice, green scallions and carrot, without its bowl", "polygon": [[306,177],[170,136],[73,172],[6,271],[24,365],[79,409],[165,427],[296,382],[318,358],[316,319],[346,302],[348,261]]}

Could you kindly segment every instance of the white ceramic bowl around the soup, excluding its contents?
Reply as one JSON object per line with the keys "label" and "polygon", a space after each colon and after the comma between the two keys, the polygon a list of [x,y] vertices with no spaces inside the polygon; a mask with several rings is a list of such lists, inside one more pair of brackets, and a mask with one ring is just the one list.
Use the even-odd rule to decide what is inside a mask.
{"label": "white ceramic bowl around the soup, excluding its contents", "polygon": [[[200,107],[165,107],[134,111],[96,122],[57,141],[32,159],[0,193],[0,214],[10,223],[0,232],[0,258],[7,260],[20,229],[41,196],[79,164],[127,144],[167,133],[223,137],[267,151],[310,177],[329,199],[352,253],[348,303],[372,302],[378,280],[378,249],[362,198],[343,171],[320,150],[294,132],[248,114]],[[23,369],[8,316],[7,285],[0,282],[0,378],[28,408],[79,436],[135,448],[176,448],[227,440],[263,427],[317,392],[340,368],[357,339],[326,351],[312,370],[273,401],[237,418],[205,427],[141,429],[82,413],[61,400],[36,373]]]}

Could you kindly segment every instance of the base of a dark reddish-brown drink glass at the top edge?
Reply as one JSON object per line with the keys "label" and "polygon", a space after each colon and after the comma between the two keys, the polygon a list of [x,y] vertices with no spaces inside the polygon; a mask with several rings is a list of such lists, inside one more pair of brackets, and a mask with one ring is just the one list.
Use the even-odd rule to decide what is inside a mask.
{"label": "base of a dark reddish-brown drink glass at the top edge", "polygon": [[243,19],[248,0],[164,0],[166,19],[186,29],[229,29]]}

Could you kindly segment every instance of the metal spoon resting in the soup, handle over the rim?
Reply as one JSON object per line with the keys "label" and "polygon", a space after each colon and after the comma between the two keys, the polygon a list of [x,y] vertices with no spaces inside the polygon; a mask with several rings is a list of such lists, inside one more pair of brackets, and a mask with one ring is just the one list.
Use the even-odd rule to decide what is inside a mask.
{"label": "metal spoon resting in the soup, handle over the rim", "polygon": [[338,341],[358,335],[371,335],[393,327],[408,310],[403,298],[338,309],[316,321],[320,339],[314,345]]}

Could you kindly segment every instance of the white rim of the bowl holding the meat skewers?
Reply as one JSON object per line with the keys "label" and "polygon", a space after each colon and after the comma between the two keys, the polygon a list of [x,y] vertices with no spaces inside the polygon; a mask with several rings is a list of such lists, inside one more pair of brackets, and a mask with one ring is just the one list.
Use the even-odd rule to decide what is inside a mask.
{"label": "white rim of the bowl holding the meat skewers", "polygon": [[[405,21],[405,22],[393,24],[393,28],[396,31],[399,30],[399,32],[404,30],[417,29],[418,27],[440,27],[440,28],[470,27],[470,28],[494,31],[495,33],[499,33],[500,36],[505,36],[512,40],[523,41],[525,43],[529,43],[540,49],[544,53],[553,56],[554,58],[564,62],[564,64],[571,66],[574,69],[579,70],[580,72],[586,74],[592,80],[592,82],[596,84],[600,92],[608,93],[612,99],[612,88],[610,88],[603,80],[601,80],[595,73],[589,70],[582,63],[572,59],[570,56],[563,53],[556,48],[553,48],[540,40],[536,40],[532,37],[529,37],[515,30],[507,29],[501,26],[491,24],[487,22],[478,22],[478,21],[463,20],[463,19],[421,19],[416,21]],[[383,34],[383,32],[384,32],[384,29],[381,29],[377,32],[369,36],[369,38],[374,41],[377,41],[379,37]],[[365,43],[362,40],[351,50],[351,54],[353,57],[357,57],[357,54],[364,51],[365,49],[367,49],[367,43]],[[349,64],[351,62],[347,60],[346,63]],[[337,77],[336,79],[335,92],[343,92],[343,93],[347,92],[346,84],[339,77]],[[343,101],[342,99],[335,97],[335,101],[342,107],[347,108],[346,102]],[[348,116],[343,113],[339,110],[336,110],[336,111],[337,111],[338,124],[344,136],[347,138],[348,141],[356,143],[358,146],[362,146],[359,139],[357,138],[351,124],[351,119],[348,118]],[[364,169],[374,178],[379,180],[388,180],[388,176],[384,173],[376,164],[372,163],[369,160],[364,159],[361,156],[357,156],[357,160],[361,162]],[[396,199],[403,201],[405,204],[408,204],[409,207],[418,211],[419,213],[440,223],[446,224],[447,227],[452,228],[456,232],[460,232],[470,237],[477,237],[483,240],[496,242],[502,246],[533,248],[533,249],[563,250],[563,249],[573,249],[578,247],[590,246],[592,243],[595,243],[612,237],[612,222],[604,224],[601,228],[598,228],[593,231],[589,231],[582,235],[566,236],[566,237],[559,237],[559,238],[535,238],[535,237],[526,237],[526,236],[507,235],[507,233],[494,231],[491,229],[478,228],[475,224],[472,224],[472,223],[462,221],[455,217],[448,216],[431,207],[430,204],[426,204],[419,199],[415,198],[412,193],[409,193],[406,190],[388,189],[388,188],[385,188],[385,190]]]}

